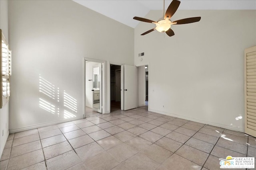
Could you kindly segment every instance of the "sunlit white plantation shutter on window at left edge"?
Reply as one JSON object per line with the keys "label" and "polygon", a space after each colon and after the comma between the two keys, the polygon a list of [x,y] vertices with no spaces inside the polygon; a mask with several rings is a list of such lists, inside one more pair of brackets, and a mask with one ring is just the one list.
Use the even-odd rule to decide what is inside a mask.
{"label": "sunlit white plantation shutter on window at left edge", "polygon": [[0,72],[2,74],[2,81],[0,81],[0,96],[2,96],[0,97],[0,108],[9,101],[10,97],[11,56],[9,45],[0,29]]}

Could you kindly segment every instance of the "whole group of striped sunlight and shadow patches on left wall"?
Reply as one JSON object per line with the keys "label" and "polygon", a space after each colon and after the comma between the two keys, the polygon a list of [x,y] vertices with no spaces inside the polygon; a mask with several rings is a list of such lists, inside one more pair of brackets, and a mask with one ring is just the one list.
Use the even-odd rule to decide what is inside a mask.
{"label": "whole group of striped sunlight and shadow patches on left wall", "polygon": [[[44,94],[39,98],[39,107],[45,111],[60,116],[60,88],[56,88],[52,83],[42,78],[39,74],[39,92]],[[54,105],[57,104],[58,106]],[[77,100],[70,96],[65,90],[63,91],[63,117],[64,119],[76,117],[77,113]]]}

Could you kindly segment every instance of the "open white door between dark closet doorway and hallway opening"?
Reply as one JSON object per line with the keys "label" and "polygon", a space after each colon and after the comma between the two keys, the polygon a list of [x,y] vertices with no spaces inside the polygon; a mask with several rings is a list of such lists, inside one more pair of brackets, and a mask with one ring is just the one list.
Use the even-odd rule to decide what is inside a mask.
{"label": "open white door between dark closet doorway and hallway opening", "polygon": [[129,110],[137,107],[137,68],[121,66],[121,109]]}

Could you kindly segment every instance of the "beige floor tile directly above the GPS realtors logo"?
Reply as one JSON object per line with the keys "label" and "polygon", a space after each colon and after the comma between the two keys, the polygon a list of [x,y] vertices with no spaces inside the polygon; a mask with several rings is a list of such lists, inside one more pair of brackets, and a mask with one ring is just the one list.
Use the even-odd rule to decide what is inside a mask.
{"label": "beige floor tile directly above the GPS realtors logo", "polygon": [[216,145],[219,147],[222,147],[222,148],[226,148],[229,150],[239,152],[241,154],[246,154],[246,152],[247,152],[246,145],[242,145],[242,144],[235,143],[235,142],[225,140],[225,139],[219,139],[218,142],[216,143]]}

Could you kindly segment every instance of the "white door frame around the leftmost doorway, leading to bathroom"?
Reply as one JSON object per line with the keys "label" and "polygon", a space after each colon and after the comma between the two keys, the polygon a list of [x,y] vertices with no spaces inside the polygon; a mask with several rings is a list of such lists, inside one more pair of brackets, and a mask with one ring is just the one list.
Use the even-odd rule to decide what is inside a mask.
{"label": "white door frame around the leftmost doorway, leading to bathroom", "polygon": [[86,118],[86,61],[102,63],[102,114],[106,113],[106,61],[83,57],[83,113]]}

